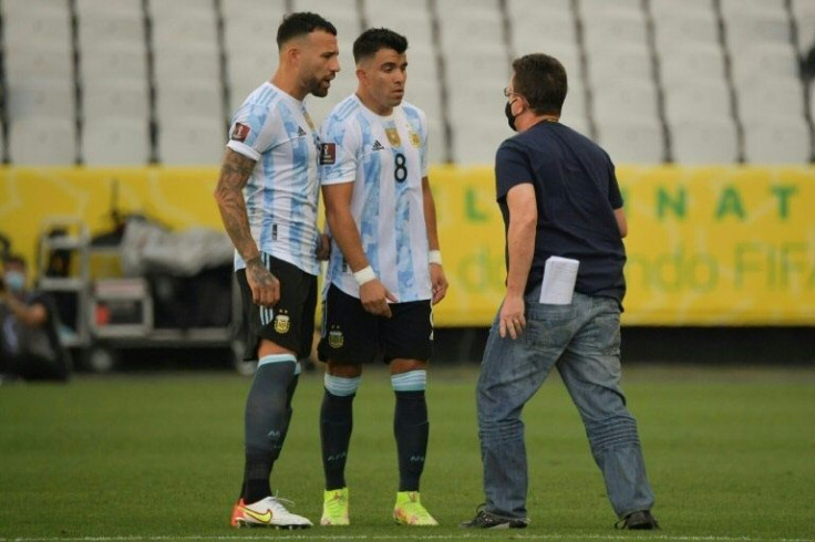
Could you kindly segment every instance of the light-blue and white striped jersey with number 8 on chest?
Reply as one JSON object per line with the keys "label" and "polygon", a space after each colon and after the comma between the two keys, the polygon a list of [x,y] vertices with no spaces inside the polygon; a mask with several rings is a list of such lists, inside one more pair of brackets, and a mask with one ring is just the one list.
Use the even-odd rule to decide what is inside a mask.
{"label": "light-blue and white striped jersey with number 8 on chest", "polygon": [[[376,277],[400,302],[432,296],[422,177],[427,123],[407,103],[382,117],[351,95],[322,127],[320,183],[354,183],[351,212]],[[353,272],[332,241],[326,284],[359,298]]]}

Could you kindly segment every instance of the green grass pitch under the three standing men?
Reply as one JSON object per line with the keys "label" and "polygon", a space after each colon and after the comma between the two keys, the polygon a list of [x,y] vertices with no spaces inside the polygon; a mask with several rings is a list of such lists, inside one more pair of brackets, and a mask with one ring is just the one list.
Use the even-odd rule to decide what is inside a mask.
{"label": "green grass pitch under the three standing men", "polygon": [[[457,523],[483,501],[475,421],[477,365],[434,367],[422,501],[440,528],[391,523],[398,475],[393,393],[367,367],[348,459],[351,527],[268,532],[327,540],[501,536]],[[0,387],[0,538],[257,538],[227,527],[243,469],[249,379],[223,373],[80,376]],[[644,538],[815,538],[815,369],[632,366],[638,418],[663,530]],[[274,489],[319,521],[322,375],[301,376]],[[525,410],[532,524],[522,538],[627,538],[556,375]],[[643,538],[642,534],[632,535]]]}

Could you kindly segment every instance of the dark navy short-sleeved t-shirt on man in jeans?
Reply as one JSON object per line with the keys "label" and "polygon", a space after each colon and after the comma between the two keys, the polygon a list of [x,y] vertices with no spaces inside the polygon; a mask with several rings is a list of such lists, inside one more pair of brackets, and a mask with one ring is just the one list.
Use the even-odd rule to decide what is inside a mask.
{"label": "dark navy short-sleeved t-shirt on man in jeans", "polygon": [[560,256],[580,262],[577,292],[622,304],[626,249],[613,212],[622,196],[605,150],[568,126],[541,122],[501,145],[495,179],[505,233],[507,192],[520,184],[535,187],[538,223],[527,292],[543,280],[546,259]]}

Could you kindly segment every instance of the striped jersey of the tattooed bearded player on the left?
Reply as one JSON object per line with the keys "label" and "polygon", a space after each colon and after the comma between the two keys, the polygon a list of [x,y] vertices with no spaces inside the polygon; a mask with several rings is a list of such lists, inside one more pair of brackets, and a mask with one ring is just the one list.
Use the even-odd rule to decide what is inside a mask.
{"label": "striped jersey of the tattooed bearded player on the left", "polygon": [[[256,160],[244,187],[258,250],[318,274],[320,139],[302,102],[271,83],[246,98],[233,118],[227,146]],[[235,269],[245,263],[235,252]]]}

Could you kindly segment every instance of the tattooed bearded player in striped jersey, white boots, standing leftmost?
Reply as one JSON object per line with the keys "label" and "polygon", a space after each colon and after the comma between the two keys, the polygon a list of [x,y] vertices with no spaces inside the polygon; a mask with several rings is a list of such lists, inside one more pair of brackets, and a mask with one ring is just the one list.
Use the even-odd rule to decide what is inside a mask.
{"label": "tattooed bearded player in striped jersey, white boots, standing leftmost", "polygon": [[270,476],[291,419],[299,357],[311,351],[318,257],[320,139],[303,98],[326,96],[340,70],[337,29],[314,13],[278,28],[279,66],[235,114],[215,191],[235,243],[248,322],[247,358],[257,359],[245,416],[246,463],[233,527],[311,527],[272,497]]}

